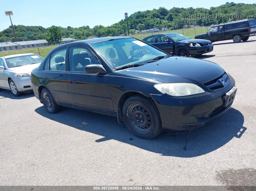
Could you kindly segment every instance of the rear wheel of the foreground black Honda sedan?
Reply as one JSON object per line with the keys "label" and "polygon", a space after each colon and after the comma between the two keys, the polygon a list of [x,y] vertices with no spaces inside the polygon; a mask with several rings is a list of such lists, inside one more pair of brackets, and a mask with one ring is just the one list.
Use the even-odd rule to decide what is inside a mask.
{"label": "rear wheel of the foreground black Honda sedan", "polygon": [[61,110],[61,106],[57,105],[51,93],[46,88],[41,91],[41,100],[48,113],[57,113]]}

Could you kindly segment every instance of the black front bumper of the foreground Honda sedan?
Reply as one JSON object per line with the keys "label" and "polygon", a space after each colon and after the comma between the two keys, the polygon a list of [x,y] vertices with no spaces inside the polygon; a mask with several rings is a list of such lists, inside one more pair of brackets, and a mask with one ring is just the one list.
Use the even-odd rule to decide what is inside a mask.
{"label": "black front bumper of the foreground Honda sedan", "polygon": [[162,127],[165,130],[185,131],[202,126],[226,112],[233,101],[225,107],[225,95],[235,86],[234,79],[230,75],[229,78],[229,84],[216,91],[199,85],[206,90],[205,93],[181,97],[151,95],[160,114]]}

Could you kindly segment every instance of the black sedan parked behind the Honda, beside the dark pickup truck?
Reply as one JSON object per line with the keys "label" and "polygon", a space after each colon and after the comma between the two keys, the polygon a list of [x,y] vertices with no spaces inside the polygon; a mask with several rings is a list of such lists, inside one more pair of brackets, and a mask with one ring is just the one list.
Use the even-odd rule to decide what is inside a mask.
{"label": "black sedan parked behind the Honda, beside the dark pickup truck", "polygon": [[155,34],[142,40],[160,48],[167,54],[176,56],[199,56],[213,50],[211,41],[189,39],[179,33]]}

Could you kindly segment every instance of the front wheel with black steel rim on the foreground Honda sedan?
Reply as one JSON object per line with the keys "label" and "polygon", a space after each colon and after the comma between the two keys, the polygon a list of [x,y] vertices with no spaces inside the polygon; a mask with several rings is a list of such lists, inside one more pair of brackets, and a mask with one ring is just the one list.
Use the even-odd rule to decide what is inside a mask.
{"label": "front wheel with black steel rim on the foreground Honda sedan", "polygon": [[152,139],[163,131],[156,107],[142,95],[134,95],[125,101],[123,117],[127,128],[137,137]]}

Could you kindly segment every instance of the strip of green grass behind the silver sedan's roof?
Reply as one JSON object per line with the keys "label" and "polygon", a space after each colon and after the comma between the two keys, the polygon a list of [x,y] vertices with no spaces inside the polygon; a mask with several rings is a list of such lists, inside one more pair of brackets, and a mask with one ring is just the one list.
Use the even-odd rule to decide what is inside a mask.
{"label": "strip of green grass behind the silver sedan's roof", "polygon": [[[57,46],[40,47],[39,51],[40,51],[41,57],[44,58],[55,47]],[[8,52],[0,52],[0,57],[13,55],[13,54],[24,54],[24,53],[34,53],[39,55],[37,48],[29,48],[29,49],[14,50],[14,51],[8,51]]]}

